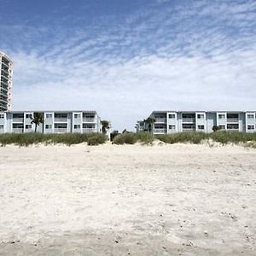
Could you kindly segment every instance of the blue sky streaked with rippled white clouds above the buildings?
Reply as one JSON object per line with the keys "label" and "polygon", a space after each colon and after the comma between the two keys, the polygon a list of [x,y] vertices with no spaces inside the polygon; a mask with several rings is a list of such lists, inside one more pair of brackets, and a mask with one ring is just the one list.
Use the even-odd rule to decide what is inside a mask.
{"label": "blue sky streaked with rippled white clouds above the buildings", "polygon": [[13,109],[256,109],[256,1],[0,0]]}

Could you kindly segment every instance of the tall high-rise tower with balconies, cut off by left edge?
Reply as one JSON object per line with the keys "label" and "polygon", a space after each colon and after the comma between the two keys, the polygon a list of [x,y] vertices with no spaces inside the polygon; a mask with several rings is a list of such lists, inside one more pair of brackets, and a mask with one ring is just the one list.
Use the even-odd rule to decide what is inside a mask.
{"label": "tall high-rise tower with balconies, cut off by left edge", "polygon": [[13,85],[13,61],[0,51],[0,111],[11,109],[11,90]]}

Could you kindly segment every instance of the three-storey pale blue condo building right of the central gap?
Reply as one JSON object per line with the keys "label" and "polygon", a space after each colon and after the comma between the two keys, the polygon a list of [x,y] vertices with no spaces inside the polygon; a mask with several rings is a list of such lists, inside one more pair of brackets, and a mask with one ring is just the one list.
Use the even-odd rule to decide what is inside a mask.
{"label": "three-storey pale blue condo building right of the central gap", "polygon": [[[152,131],[156,134],[170,134],[183,131],[210,133],[213,126],[219,130],[256,132],[256,111],[154,111]],[[138,121],[137,131],[148,129],[147,123]]]}

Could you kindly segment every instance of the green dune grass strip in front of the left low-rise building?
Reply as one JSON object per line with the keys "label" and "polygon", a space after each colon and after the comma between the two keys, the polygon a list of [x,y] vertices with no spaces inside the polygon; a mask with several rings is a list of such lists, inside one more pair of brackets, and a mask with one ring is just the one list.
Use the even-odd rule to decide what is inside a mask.
{"label": "green dune grass strip in front of the left low-rise building", "polygon": [[103,134],[99,133],[65,133],[65,134],[42,134],[42,133],[5,133],[0,135],[0,144],[15,144],[19,146],[28,146],[32,144],[57,144],[63,143],[68,146],[79,143],[88,143],[90,145],[98,145],[108,140]]}

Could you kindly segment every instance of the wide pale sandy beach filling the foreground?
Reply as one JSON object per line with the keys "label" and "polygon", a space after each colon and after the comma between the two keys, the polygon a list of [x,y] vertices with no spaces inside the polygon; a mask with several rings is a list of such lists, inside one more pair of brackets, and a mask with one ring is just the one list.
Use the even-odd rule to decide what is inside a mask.
{"label": "wide pale sandy beach filling the foreground", "polygon": [[0,148],[0,255],[256,255],[256,150]]}

